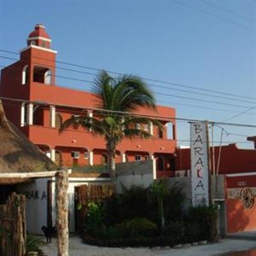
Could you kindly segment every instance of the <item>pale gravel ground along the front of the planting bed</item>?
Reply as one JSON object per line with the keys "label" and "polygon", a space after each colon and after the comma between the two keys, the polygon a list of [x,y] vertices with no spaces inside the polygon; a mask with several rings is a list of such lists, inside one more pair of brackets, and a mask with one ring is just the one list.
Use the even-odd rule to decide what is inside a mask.
{"label": "pale gravel ground along the front of the planting bed", "polygon": [[[69,256],[210,256],[218,253],[243,251],[255,248],[255,240],[223,239],[220,243],[191,246],[189,248],[108,248],[84,244],[78,236],[71,236]],[[48,256],[57,255],[56,239],[46,244],[42,250]]]}

